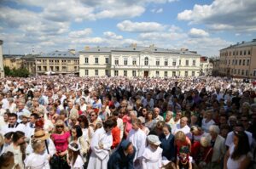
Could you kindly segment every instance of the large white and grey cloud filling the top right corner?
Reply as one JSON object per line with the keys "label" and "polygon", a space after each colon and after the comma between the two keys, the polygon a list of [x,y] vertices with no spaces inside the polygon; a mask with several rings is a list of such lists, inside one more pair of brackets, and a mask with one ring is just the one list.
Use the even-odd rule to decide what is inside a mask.
{"label": "large white and grey cloud filling the top right corner", "polygon": [[177,14],[189,24],[205,24],[213,31],[256,31],[255,1],[215,0],[210,5],[195,4],[191,10]]}

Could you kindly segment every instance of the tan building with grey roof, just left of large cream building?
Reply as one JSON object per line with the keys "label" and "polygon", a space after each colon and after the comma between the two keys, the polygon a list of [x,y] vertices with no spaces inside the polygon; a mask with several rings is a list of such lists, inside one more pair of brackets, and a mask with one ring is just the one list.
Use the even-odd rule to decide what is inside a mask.
{"label": "tan building with grey roof, just left of large cream building", "polygon": [[79,55],[75,50],[39,54],[35,60],[36,74],[79,74]]}

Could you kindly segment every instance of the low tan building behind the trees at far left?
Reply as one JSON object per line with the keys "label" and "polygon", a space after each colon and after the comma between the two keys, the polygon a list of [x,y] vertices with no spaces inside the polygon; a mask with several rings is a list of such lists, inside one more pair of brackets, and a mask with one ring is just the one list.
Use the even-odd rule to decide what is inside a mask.
{"label": "low tan building behind the trees at far left", "polygon": [[3,55],[3,66],[8,66],[10,69],[19,69],[23,64],[21,59],[24,55],[17,54],[4,54]]}

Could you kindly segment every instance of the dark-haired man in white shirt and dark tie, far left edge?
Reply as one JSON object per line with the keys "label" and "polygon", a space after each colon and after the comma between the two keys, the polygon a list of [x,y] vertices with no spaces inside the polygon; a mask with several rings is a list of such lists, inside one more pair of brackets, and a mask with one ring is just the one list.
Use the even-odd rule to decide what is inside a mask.
{"label": "dark-haired man in white shirt and dark tie, far left edge", "polygon": [[20,131],[20,132],[26,132],[26,127],[24,124],[20,124],[17,122],[17,115],[15,113],[11,113],[9,114],[8,117],[8,124],[3,126],[3,128],[1,129],[1,133],[3,133],[3,135],[7,132],[16,132],[16,131]]}

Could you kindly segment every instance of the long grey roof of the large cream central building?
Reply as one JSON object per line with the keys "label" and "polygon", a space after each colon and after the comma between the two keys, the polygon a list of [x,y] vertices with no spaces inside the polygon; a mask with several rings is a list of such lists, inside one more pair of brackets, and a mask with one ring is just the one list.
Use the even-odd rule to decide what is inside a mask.
{"label": "long grey roof of the large cream central building", "polygon": [[111,53],[111,52],[143,52],[148,51],[152,53],[165,53],[165,54],[181,54],[181,55],[199,55],[196,52],[191,52],[189,50],[176,50],[176,49],[165,49],[165,48],[156,48],[151,47],[140,47],[140,46],[131,46],[126,48],[88,48],[79,53]]}

